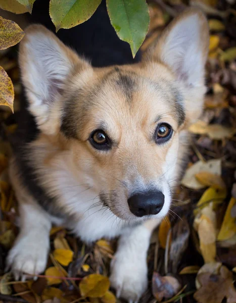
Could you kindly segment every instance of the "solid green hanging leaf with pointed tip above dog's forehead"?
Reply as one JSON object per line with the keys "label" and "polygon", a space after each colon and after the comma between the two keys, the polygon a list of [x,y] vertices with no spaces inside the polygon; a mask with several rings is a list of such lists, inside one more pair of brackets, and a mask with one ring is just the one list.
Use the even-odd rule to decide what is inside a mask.
{"label": "solid green hanging leaf with pointed tip above dog's forehead", "polygon": [[107,0],[107,10],[118,37],[129,43],[133,57],[147,35],[150,16],[145,0]]}

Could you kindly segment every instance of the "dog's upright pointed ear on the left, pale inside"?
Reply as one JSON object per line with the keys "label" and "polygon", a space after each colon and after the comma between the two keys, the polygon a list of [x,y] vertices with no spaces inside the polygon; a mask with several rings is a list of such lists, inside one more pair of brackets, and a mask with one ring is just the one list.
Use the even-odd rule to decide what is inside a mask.
{"label": "dog's upright pointed ear on the left, pale inside", "polygon": [[20,43],[19,64],[29,111],[44,131],[52,105],[63,91],[68,76],[91,66],[42,25],[31,25]]}

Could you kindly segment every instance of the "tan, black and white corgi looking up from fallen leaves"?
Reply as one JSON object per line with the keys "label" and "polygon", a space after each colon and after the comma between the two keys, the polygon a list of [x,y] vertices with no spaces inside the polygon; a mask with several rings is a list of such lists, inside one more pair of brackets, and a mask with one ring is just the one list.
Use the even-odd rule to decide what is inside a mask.
{"label": "tan, black and white corgi looking up from fallen leaves", "polygon": [[20,232],[8,268],[16,279],[43,272],[52,224],[87,243],[119,236],[111,285],[136,302],[148,285],[150,236],[187,157],[187,128],[202,112],[207,20],[187,9],[135,59],[104,3],[58,37],[49,19],[35,20],[48,28],[30,25],[19,46],[24,95],[9,174]]}

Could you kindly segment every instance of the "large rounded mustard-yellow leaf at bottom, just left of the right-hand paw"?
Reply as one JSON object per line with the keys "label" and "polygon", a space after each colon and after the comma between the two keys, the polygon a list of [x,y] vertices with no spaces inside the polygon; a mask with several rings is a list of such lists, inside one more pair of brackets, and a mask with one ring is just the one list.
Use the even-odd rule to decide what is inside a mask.
{"label": "large rounded mustard-yellow leaf at bottom, just left of the right-hand paw", "polygon": [[91,274],[79,283],[80,293],[84,297],[102,297],[108,291],[110,281],[107,277],[99,274]]}

